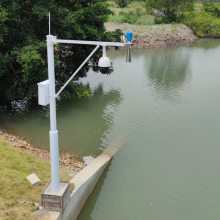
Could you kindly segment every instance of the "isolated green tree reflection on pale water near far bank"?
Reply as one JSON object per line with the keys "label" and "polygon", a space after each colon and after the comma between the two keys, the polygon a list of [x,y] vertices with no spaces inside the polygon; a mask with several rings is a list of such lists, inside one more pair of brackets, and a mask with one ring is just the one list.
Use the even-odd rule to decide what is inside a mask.
{"label": "isolated green tree reflection on pale water near far bank", "polygon": [[184,48],[170,48],[152,52],[148,59],[148,78],[154,90],[164,99],[175,98],[190,77],[189,53]]}

